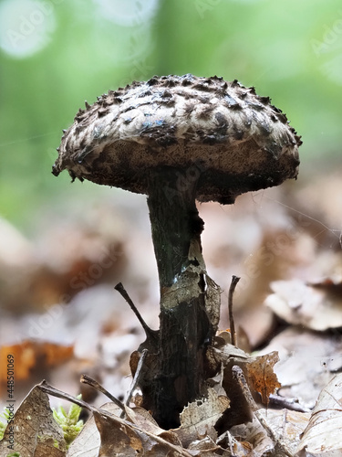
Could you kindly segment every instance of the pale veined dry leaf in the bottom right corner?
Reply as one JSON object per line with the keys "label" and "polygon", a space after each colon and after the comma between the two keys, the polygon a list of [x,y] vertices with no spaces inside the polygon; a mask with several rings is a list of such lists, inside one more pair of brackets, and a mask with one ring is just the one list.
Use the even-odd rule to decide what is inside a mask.
{"label": "pale veined dry leaf in the bottom right corner", "polygon": [[297,452],[301,457],[342,455],[342,374],[320,393]]}

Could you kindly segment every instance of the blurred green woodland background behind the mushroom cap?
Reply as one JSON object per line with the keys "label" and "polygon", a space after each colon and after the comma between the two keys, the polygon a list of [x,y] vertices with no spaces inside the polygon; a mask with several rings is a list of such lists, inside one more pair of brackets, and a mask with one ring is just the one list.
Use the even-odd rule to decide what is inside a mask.
{"label": "blurred green woodland background behind the mushroom cap", "polygon": [[0,212],[27,233],[113,192],[51,175],[61,131],[154,74],[254,85],[303,136],[300,175],[339,165],[340,0],[2,0],[0,65]]}

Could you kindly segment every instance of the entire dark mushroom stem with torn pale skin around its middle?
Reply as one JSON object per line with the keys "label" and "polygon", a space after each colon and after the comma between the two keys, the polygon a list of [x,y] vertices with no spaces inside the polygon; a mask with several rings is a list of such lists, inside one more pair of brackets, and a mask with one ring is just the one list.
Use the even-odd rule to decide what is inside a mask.
{"label": "entire dark mushroom stem with torn pale skin around its middle", "polygon": [[206,309],[209,287],[196,185],[197,179],[183,181],[171,167],[150,175],[148,205],[161,287],[161,328],[156,373],[145,380],[153,386],[143,393],[145,408],[166,430],[178,427],[181,409],[201,395],[205,348],[216,330]]}

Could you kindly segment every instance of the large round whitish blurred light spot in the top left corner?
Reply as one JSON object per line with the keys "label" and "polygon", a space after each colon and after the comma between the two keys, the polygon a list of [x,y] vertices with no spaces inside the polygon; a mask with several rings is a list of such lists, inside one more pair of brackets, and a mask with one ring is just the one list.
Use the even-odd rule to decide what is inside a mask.
{"label": "large round whitish blurred light spot in the top left corner", "polygon": [[45,48],[55,27],[55,6],[50,1],[0,3],[0,48],[11,57],[28,58]]}

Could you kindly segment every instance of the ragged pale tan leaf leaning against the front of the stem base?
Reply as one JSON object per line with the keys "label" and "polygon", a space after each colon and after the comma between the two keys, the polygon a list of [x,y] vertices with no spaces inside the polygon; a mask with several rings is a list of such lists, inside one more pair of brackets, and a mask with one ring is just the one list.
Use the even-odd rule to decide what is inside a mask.
{"label": "ragged pale tan leaf leaning against the front of the stem base", "polygon": [[213,428],[223,411],[229,408],[229,399],[219,396],[213,390],[208,389],[208,397],[196,400],[185,407],[181,412],[181,427],[173,430],[181,439],[184,447],[188,447],[192,441],[210,437],[216,441],[217,433]]}

